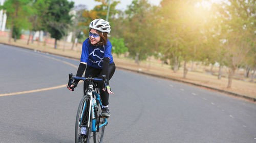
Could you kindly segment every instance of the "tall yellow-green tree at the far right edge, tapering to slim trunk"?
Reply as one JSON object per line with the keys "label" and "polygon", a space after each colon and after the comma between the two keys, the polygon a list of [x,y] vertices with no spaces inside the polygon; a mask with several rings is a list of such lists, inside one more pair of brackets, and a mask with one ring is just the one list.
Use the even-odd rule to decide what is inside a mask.
{"label": "tall yellow-green tree at the far right edge, tapering to slim trunk", "polygon": [[227,88],[231,87],[234,72],[245,60],[252,43],[255,42],[255,5],[253,0],[236,0],[223,2],[219,7],[219,14],[224,21],[222,33],[225,32],[225,61],[229,67]]}

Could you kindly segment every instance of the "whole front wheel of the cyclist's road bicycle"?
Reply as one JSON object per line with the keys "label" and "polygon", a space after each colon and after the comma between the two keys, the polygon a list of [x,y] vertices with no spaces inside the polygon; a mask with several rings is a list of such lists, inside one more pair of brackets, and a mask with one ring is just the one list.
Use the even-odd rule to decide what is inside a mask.
{"label": "whole front wheel of the cyclist's road bicycle", "polygon": [[[89,118],[90,98],[83,96],[81,99],[77,114],[75,125],[75,142],[76,143],[89,143],[91,139],[92,120]],[[90,122],[90,126],[86,127]],[[85,135],[86,134],[86,135]]]}

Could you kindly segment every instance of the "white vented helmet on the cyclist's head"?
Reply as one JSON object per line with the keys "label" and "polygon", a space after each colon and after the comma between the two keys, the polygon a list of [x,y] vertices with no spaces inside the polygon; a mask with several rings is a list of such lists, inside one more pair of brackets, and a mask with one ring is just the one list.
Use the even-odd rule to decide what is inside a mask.
{"label": "white vented helmet on the cyclist's head", "polygon": [[108,32],[108,34],[110,34],[110,22],[103,19],[94,19],[90,23],[89,27],[100,32]]}

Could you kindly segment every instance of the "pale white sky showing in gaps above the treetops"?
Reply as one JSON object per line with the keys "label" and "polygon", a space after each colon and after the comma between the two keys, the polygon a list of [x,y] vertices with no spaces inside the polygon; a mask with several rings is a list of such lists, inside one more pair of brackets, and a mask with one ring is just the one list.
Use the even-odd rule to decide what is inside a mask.
{"label": "pale white sky showing in gaps above the treetops", "polygon": [[[75,3],[75,6],[82,4],[86,5],[89,10],[93,9],[96,5],[99,5],[99,2],[95,2],[93,0],[68,0],[69,2],[73,1]],[[120,4],[116,6],[116,9],[118,10],[125,10],[127,8],[127,5],[131,5],[133,0],[116,0],[120,1]],[[152,5],[159,5],[161,0],[148,0],[148,2]]]}

